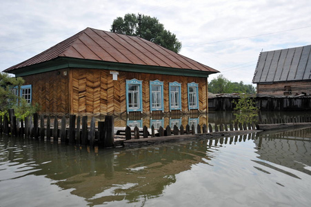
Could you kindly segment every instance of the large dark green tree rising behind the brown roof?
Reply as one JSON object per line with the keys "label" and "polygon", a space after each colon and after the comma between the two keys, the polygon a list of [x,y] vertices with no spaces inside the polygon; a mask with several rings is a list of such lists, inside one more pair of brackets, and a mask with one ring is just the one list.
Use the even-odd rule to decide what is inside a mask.
{"label": "large dark green tree rising behind the brown roof", "polygon": [[[140,23],[139,19],[141,19]],[[156,17],[126,14],[124,18],[117,17],[117,19],[114,19],[110,31],[115,31],[118,34],[139,36],[174,52],[181,50],[181,42],[178,41],[176,35],[169,30],[165,30],[163,24],[159,23]]]}

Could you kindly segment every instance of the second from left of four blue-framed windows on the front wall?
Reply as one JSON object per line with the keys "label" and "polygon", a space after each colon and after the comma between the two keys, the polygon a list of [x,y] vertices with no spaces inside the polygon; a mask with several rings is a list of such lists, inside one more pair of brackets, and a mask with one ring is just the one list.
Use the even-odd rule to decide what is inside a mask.
{"label": "second from left of four blue-framed windows on the front wall", "polygon": [[150,110],[164,110],[162,81],[150,81]]}

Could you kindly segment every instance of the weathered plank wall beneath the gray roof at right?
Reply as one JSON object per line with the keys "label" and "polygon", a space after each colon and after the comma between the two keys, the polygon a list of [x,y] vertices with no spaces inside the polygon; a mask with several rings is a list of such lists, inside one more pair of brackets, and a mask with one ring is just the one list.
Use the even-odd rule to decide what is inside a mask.
{"label": "weathered plank wall beneath the gray roof at right", "polygon": [[284,94],[284,92],[288,92],[288,90],[285,90],[285,86],[290,86],[292,95],[301,94],[301,92],[311,94],[311,81],[292,81],[271,84],[257,83],[257,93],[261,95],[288,95]]}

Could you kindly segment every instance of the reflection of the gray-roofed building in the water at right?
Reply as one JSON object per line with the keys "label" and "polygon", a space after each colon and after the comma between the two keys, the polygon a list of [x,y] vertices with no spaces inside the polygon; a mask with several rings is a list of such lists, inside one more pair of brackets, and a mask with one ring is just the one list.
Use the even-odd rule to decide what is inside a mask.
{"label": "reflection of the gray-roofed building in the water at right", "polygon": [[259,135],[254,142],[259,159],[311,175],[311,128]]}

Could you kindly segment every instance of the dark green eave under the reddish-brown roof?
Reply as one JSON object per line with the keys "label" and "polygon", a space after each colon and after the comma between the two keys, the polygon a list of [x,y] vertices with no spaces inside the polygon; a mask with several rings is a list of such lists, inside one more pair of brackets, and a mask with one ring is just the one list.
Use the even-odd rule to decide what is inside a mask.
{"label": "dark green eave under the reddish-brown roof", "polygon": [[145,66],[135,65],[130,63],[114,63],[108,61],[97,61],[90,59],[77,59],[72,57],[57,57],[50,61],[38,63],[32,66],[17,68],[8,71],[17,77],[26,75],[34,75],[41,72],[49,72],[53,70],[60,70],[64,68],[90,68],[102,70],[119,70],[126,72],[144,72],[161,75],[183,75],[188,77],[208,77],[211,74],[217,73],[214,71],[201,71],[181,68],[166,68],[161,66]]}

